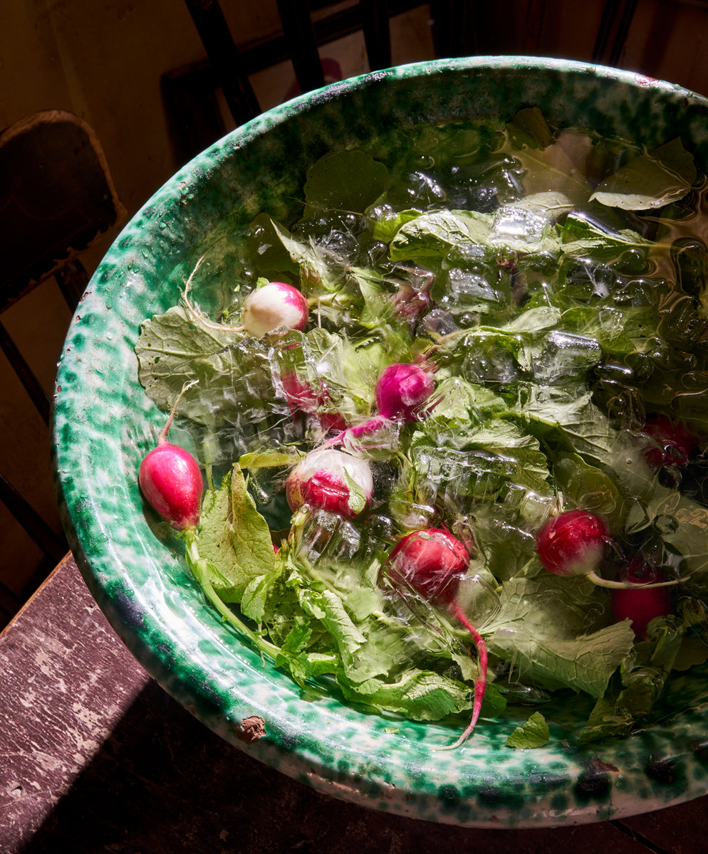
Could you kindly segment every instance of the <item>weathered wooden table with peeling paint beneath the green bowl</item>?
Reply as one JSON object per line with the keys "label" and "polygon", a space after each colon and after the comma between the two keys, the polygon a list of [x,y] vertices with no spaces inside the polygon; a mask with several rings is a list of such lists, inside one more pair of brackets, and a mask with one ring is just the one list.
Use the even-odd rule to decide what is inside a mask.
{"label": "weathered wooden table with peeling paint beneath the green bowl", "polygon": [[71,555],[0,635],[3,854],[698,854],[708,797],[575,828],[480,830],[316,793],[211,733],[150,679]]}

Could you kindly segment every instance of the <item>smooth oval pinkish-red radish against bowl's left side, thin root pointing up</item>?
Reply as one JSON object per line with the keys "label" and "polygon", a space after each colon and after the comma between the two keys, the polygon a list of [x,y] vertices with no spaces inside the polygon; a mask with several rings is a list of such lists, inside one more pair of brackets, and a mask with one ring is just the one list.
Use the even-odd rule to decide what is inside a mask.
{"label": "smooth oval pinkish-red radish against bowl's left side, thin root pointing up", "polygon": [[177,530],[194,530],[202,504],[202,471],[192,454],[167,441],[182,389],[162,428],[156,447],[140,463],[138,483],[145,500]]}

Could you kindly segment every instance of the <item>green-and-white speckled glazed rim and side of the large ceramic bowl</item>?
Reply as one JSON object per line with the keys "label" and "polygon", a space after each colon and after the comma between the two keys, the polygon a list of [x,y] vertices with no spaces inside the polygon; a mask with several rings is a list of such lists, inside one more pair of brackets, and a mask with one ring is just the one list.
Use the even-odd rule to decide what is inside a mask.
{"label": "green-and-white speckled glazed rim and side of the large ceramic bowl", "polygon": [[412,126],[510,117],[530,104],[558,126],[649,147],[680,133],[708,164],[705,99],[634,73],[478,57],[350,79],[259,116],[150,199],[91,279],[56,380],[56,483],[71,546],[98,604],[156,681],[226,740],[322,792],[469,826],[593,822],[706,793],[705,672],[676,681],[674,711],[657,725],[593,749],[577,746],[572,705],[554,717],[545,748],[504,746],[516,726],[508,717],[483,720],[461,750],[435,752],[456,728],[304,695],[204,605],[180,540],[144,513],[139,460],[165,416],[138,383],[133,346],[143,319],[179,301],[215,233],[261,210],[292,218],[306,167],[328,149],[357,146],[395,160]]}

